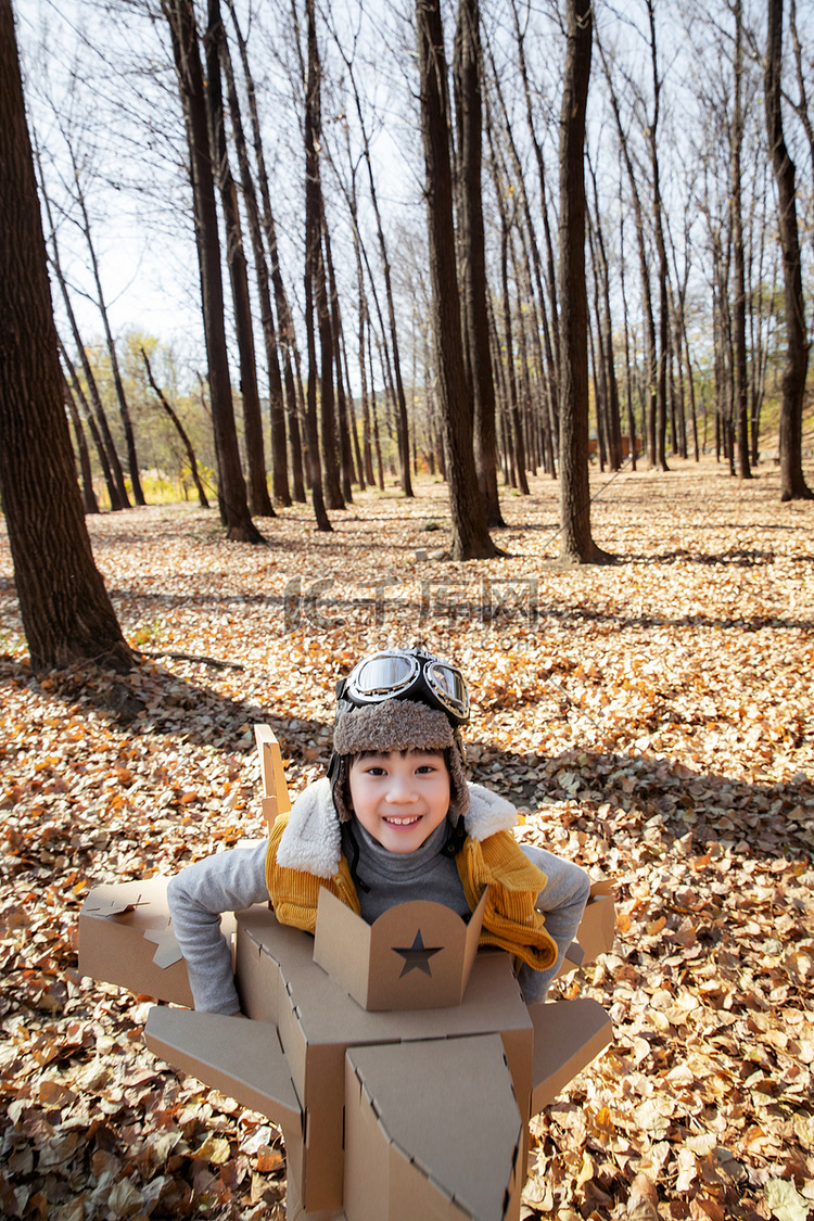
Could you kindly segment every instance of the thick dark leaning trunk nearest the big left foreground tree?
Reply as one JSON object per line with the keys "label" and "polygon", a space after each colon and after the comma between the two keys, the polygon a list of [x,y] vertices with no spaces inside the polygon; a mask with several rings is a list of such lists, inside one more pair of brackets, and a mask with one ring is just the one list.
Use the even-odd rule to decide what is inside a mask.
{"label": "thick dark leaning trunk nearest the big left foreground tree", "polygon": [[237,542],[258,543],[264,542],[264,538],[249,513],[234,426],[223,324],[221,243],[217,232],[212,158],[195,13],[192,0],[162,0],[162,12],[170,27],[189,147],[212,435],[218,474],[217,503],[228,537]]}

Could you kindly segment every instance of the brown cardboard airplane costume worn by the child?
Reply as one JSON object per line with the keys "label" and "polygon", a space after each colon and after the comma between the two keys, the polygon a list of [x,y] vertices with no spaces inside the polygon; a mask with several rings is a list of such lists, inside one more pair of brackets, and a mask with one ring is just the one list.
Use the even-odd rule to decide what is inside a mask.
{"label": "brown cardboard airplane costume worn by the child", "polygon": [[[290,808],[279,747],[256,726],[264,814]],[[79,969],[175,1006],[150,1010],[156,1055],[283,1132],[289,1221],[517,1221],[527,1123],[610,1042],[578,998],[526,1005],[511,960],[467,923],[409,902],[372,926],[322,890],[316,937],[266,906],[226,916],[245,1017],[196,1013],[166,878],[98,886]],[[609,950],[597,883],[561,972]]]}

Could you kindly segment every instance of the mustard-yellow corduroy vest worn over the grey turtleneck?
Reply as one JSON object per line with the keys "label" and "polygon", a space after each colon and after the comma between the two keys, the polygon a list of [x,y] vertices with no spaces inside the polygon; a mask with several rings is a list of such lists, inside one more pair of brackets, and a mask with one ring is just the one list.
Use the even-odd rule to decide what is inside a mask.
{"label": "mustard-yellow corduroy vest worn over the grey turtleneck", "polygon": [[[316,932],[316,905],[320,886],[326,886],[345,906],[360,913],[359,896],[348,862],[342,855],[332,878],[317,878],[300,869],[277,864],[277,847],[288,824],[288,814],[275,822],[266,852],[266,885],[275,915],[281,924]],[[483,912],[481,945],[508,950],[535,971],[544,971],[556,961],[556,943],[546,932],[542,912],[535,907],[546,885],[542,873],[520,850],[510,832],[497,832],[484,840],[467,836],[455,857],[458,873],[470,911],[474,911],[488,886]]]}

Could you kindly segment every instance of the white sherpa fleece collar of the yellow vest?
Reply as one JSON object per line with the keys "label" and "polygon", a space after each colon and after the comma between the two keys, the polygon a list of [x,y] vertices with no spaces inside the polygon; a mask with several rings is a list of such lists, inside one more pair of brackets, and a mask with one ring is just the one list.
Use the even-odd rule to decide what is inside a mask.
{"label": "white sherpa fleece collar of the yellow vest", "polygon": [[[469,784],[467,788],[470,807],[464,818],[467,835],[484,840],[497,832],[511,830],[517,813],[510,801],[480,784]],[[340,857],[339,819],[326,777],[309,784],[292,806],[288,825],[279,838],[277,864],[312,873],[317,878],[333,878]]]}

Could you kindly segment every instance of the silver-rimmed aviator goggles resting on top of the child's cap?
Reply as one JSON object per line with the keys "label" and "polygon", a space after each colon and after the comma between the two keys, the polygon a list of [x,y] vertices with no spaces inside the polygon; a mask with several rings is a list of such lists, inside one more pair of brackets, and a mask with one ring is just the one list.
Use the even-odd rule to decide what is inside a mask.
{"label": "silver-rimmed aviator goggles resting on top of the child's cap", "polygon": [[444,712],[455,725],[469,720],[469,694],[454,665],[428,653],[388,650],[364,657],[337,686],[355,707],[384,700],[417,700]]}

